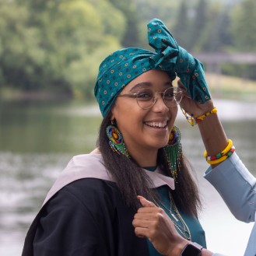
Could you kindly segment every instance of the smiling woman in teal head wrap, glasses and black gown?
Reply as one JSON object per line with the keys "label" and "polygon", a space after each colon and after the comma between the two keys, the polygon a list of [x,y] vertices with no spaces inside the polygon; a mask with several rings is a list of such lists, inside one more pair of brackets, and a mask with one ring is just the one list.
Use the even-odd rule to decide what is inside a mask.
{"label": "smiling woman in teal head wrap, glasses and black gown", "polygon": [[[167,212],[185,240],[206,247],[198,222],[200,199],[174,126],[184,90],[198,117],[211,113],[201,63],[153,19],[149,44],[127,48],[100,65],[95,86],[103,121],[98,149],[75,156],[49,191],[27,234],[23,256],[160,255],[135,234],[142,195]],[[174,189],[175,188],[175,189]]]}

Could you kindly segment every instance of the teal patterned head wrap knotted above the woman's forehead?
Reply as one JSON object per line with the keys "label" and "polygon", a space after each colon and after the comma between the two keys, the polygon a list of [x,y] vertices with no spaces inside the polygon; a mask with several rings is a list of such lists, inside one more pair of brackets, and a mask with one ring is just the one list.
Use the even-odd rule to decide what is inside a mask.
{"label": "teal patterned head wrap knotted above the woman's forehead", "polygon": [[177,44],[160,19],[148,23],[148,40],[156,52],[124,48],[110,54],[100,64],[94,94],[103,117],[124,86],[151,69],[166,71],[170,79],[177,75],[191,99],[199,103],[210,100],[202,63]]}

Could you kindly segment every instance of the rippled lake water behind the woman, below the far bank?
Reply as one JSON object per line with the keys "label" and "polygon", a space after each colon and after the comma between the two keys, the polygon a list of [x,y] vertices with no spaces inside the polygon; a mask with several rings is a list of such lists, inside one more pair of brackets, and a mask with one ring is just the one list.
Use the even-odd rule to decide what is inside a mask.
{"label": "rippled lake water behind the woman, below the far bank", "polygon": [[[216,100],[228,138],[256,175],[256,103]],[[20,255],[26,231],[49,188],[72,156],[95,148],[101,116],[85,102],[0,103],[0,255]],[[184,154],[202,192],[200,220],[208,247],[227,255],[244,254],[252,223],[234,219],[216,191],[202,178],[208,164],[198,128],[180,113]]]}

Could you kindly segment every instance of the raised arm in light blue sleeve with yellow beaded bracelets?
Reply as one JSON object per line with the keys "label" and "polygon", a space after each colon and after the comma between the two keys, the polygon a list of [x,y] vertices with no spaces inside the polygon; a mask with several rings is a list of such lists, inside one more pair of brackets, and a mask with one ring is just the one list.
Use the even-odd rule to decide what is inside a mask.
{"label": "raised arm in light blue sleeve with yellow beaded bracelets", "polygon": [[[181,82],[179,86],[182,87]],[[181,102],[184,111],[194,116],[194,119],[203,117],[202,120],[198,120],[197,126],[208,159],[212,159],[209,161],[210,165],[205,172],[205,178],[216,188],[237,219],[244,222],[254,221],[256,178],[247,170],[237,154],[233,153],[233,150],[229,151],[233,142],[226,137],[213,101],[200,104],[191,100],[187,93],[184,94],[184,100]],[[215,111],[211,113],[213,109]]]}

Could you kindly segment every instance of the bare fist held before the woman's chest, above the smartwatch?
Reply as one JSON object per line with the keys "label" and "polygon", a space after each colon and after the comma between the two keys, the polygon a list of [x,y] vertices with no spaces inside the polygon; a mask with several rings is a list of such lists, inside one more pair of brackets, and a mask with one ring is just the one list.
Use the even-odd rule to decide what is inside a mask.
{"label": "bare fist held before the woman's chest, above the smartwatch", "polygon": [[188,241],[175,230],[167,213],[153,202],[138,196],[142,204],[134,216],[132,225],[138,237],[147,237],[157,251],[163,255],[180,255]]}

